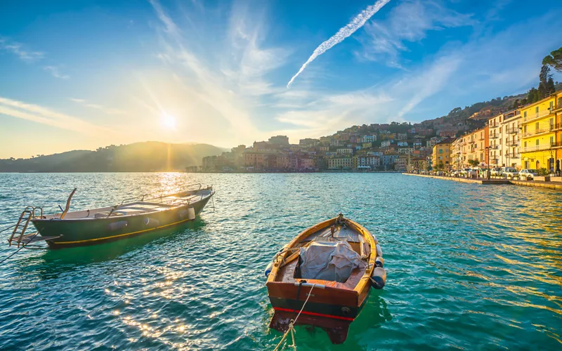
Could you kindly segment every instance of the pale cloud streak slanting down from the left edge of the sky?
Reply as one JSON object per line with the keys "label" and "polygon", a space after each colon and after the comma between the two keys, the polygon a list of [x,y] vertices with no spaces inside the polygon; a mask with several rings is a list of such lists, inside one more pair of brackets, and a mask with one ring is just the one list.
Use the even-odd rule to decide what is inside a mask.
{"label": "pale cloud streak slanting down from the left edge of the sky", "polygon": [[39,105],[3,97],[0,97],[0,114],[83,134],[99,135],[100,133],[112,133],[107,128],[96,126],[78,117],[55,112]]}

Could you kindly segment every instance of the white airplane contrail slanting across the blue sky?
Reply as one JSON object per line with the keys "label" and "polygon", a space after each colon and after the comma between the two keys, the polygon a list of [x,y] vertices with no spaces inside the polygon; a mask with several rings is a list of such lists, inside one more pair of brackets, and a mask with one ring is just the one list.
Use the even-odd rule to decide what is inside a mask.
{"label": "white airplane contrail slanting across the blue sky", "polygon": [[367,20],[369,20],[369,18],[371,18],[372,15],[377,13],[382,8],[382,6],[388,4],[388,1],[391,0],[379,0],[376,3],[374,3],[374,5],[367,6],[365,10],[361,11],[360,14],[356,15],[355,18],[353,18],[353,20],[349,22],[345,27],[340,28],[339,31],[336,34],[334,34],[334,36],[332,36],[330,39],[320,44],[320,46],[318,46],[318,48],[316,48],[315,51],[312,53],[311,57],[308,58],[306,62],[304,62],[304,65],[302,65],[301,69],[299,69],[299,72],[296,72],[296,74],[291,78],[289,83],[287,83],[287,89],[292,84],[294,79],[298,77],[299,74],[301,74],[301,72],[303,72],[304,68],[309,63],[313,62],[315,58],[318,58],[318,56],[328,51],[334,45],[341,43],[341,41],[344,41],[344,39],[346,39],[351,34],[353,34],[357,29],[363,27],[363,25],[365,25],[365,22],[367,22]]}

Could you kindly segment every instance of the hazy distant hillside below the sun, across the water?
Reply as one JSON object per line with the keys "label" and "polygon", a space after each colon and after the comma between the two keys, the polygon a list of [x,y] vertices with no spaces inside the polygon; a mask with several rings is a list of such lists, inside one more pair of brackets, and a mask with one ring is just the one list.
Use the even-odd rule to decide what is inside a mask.
{"label": "hazy distant hillside below the sun, across the water", "polygon": [[183,171],[203,157],[221,154],[207,144],[160,142],[111,145],[96,151],[74,150],[31,159],[0,159],[0,172],[152,172]]}

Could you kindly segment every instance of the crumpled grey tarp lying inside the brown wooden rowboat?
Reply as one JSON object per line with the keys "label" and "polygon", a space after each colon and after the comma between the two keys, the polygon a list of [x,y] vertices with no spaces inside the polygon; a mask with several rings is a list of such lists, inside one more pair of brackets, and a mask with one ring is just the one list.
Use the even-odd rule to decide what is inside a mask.
{"label": "crumpled grey tarp lying inside the brown wooden rowboat", "polygon": [[301,278],[345,282],[361,256],[346,241],[315,241],[301,247]]}

